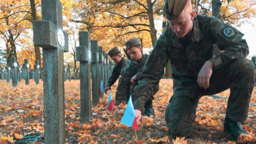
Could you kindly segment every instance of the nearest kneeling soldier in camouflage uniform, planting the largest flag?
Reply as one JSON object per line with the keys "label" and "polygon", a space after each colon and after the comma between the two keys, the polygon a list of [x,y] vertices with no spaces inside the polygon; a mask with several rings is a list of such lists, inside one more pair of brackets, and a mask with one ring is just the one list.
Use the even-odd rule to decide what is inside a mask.
{"label": "nearest kneeling soldier in camouflage uniform, planting the largest flag", "polygon": [[[199,99],[228,88],[224,131],[234,139],[246,134],[239,122],[247,118],[256,74],[245,58],[249,48],[244,34],[214,16],[195,15],[190,0],[166,0],[164,13],[170,26],[158,38],[134,88],[137,121],[145,102],[154,99],[152,90],[170,59],[174,94],[165,118],[172,136],[189,136]],[[223,51],[216,57],[213,44]]]}

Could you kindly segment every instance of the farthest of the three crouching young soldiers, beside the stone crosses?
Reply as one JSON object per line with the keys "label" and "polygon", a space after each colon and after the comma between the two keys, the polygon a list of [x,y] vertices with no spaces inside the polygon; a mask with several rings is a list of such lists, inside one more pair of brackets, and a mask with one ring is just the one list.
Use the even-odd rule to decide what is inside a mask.
{"label": "farthest of the three crouching young soldiers, beside the stone crosses", "polygon": [[[114,63],[116,63],[116,65],[114,66],[112,74],[108,79],[108,84],[104,89],[105,94],[107,94],[108,90],[111,90],[111,86],[116,82],[119,76],[122,76],[124,74],[124,69],[126,66],[128,66],[130,62],[130,60],[127,60],[126,58],[122,57],[122,54],[117,46],[111,48],[108,51],[108,55],[110,56],[111,60],[113,60]],[[126,98],[129,97],[130,94],[127,94]]]}

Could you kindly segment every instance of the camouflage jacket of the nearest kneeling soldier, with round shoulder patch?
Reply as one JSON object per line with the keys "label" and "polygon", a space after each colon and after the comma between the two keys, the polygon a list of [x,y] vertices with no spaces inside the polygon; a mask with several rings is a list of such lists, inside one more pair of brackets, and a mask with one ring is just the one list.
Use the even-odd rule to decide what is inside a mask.
{"label": "camouflage jacket of the nearest kneeling soldier, with round shoulder patch", "polygon": [[[195,16],[187,42],[182,42],[168,27],[155,43],[140,74],[138,86],[134,88],[134,109],[142,110],[148,99],[154,99],[152,89],[159,83],[168,59],[171,61],[174,94],[194,98],[199,88],[198,73],[207,60],[213,62],[215,70],[249,54],[243,35],[232,26],[207,15]],[[223,51],[216,57],[213,56],[213,44],[218,44]]]}

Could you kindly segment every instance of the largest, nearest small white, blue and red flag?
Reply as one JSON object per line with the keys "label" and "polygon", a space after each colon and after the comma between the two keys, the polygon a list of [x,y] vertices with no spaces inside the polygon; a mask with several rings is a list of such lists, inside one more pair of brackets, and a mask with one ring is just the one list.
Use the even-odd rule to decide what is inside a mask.
{"label": "largest, nearest small white, blue and red flag", "polygon": [[134,130],[139,130],[137,120],[135,117],[134,108],[132,105],[132,97],[131,96],[130,96],[130,99],[126,106],[126,109],[124,111],[124,116],[122,117],[121,123],[133,128]]}

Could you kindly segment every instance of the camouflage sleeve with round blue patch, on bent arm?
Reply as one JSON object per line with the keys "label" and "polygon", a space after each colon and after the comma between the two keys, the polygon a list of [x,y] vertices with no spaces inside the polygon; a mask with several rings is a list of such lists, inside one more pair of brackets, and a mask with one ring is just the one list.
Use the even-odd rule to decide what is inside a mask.
{"label": "camouflage sleeve with round blue patch, on bent arm", "polygon": [[223,51],[220,55],[210,59],[214,64],[214,69],[232,60],[248,56],[248,45],[246,40],[242,39],[244,34],[216,18],[212,18],[211,25],[212,40]]}

